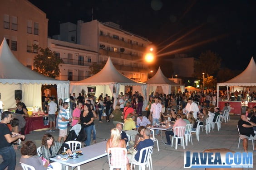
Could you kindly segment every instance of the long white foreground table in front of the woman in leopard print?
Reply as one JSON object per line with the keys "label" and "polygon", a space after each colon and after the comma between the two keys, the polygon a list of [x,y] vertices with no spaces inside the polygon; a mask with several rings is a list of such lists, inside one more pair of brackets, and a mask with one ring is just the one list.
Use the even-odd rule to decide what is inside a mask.
{"label": "long white foreground table in front of the woman in leopard print", "polygon": [[78,156],[76,160],[70,159],[67,161],[61,161],[60,159],[57,159],[57,156],[67,157],[67,155],[57,155],[54,158],[50,158],[51,161],[59,162],[62,165],[69,165],[71,167],[76,167],[79,165],[83,165],[85,163],[88,163],[90,161],[94,161],[98,158],[101,158],[103,156],[107,156],[108,153],[106,152],[106,145],[107,141],[99,142],[94,145],[86,146],[81,149],[82,151],[82,156]]}

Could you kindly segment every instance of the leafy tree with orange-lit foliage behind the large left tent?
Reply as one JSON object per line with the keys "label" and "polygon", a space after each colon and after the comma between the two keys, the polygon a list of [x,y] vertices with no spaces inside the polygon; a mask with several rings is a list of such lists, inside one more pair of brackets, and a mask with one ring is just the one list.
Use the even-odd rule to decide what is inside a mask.
{"label": "leafy tree with orange-lit foliage behind the large left tent", "polygon": [[49,47],[44,49],[34,45],[33,49],[39,52],[34,57],[34,71],[52,78],[58,77],[59,65],[63,63],[62,59],[57,57],[56,53],[51,51]]}

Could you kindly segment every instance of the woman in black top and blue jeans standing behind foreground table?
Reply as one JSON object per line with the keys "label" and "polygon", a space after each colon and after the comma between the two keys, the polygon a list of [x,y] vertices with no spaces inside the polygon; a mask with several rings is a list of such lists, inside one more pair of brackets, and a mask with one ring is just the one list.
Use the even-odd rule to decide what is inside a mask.
{"label": "woman in black top and blue jeans standing behind foreground table", "polygon": [[84,104],[84,113],[80,115],[80,121],[87,135],[84,146],[89,146],[91,144],[91,133],[94,128],[94,113],[91,110],[90,104]]}

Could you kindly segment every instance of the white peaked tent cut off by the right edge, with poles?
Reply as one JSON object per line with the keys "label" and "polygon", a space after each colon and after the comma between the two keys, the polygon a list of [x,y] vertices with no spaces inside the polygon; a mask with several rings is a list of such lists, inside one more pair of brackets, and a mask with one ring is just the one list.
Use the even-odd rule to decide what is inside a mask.
{"label": "white peaked tent cut off by the right edge, with poles", "polygon": [[[238,76],[228,80],[224,83],[217,84],[217,91],[219,91],[219,86],[227,86],[227,99],[228,96],[228,86],[242,86],[242,87],[250,87],[256,86],[256,63],[251,57],[251,61],[246,67],[246,69],[241,72]],[[217,93],[217,105],[219,104],[219,93]]]}

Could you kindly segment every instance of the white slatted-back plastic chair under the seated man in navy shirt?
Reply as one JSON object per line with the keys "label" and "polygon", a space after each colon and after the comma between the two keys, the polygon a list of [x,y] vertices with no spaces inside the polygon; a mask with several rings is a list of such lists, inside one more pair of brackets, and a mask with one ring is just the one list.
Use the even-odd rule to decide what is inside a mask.
{"label": "white slatted-back plastic chair under the seated man in navy shirt", "polygon": [[[138,165],[139,170],[145,170],[145,165],[148,165],[149,170],[151,170],[152,169],[152,160],[151,160],[152,151],[153,151],[153,146],[148,146],[141,149],[139,152],[139,160],[138,161],[134,160],[131,163],[131,170],[133,169],[133,165]],[[145,153],[144,158],[142,158],[143,152]]]}

